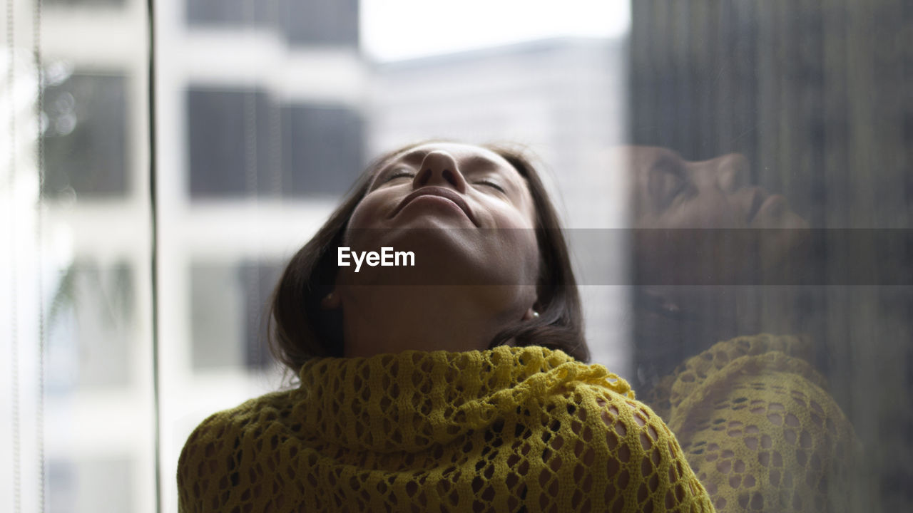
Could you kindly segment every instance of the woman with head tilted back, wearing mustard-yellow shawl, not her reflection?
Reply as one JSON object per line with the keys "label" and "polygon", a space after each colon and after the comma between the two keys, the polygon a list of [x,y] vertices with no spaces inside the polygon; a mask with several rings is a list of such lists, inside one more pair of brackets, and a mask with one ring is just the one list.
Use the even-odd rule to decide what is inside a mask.
{"label": "woman with head tilted back, wearing mustard-yellow shawl, not her reflection", "polygon": [[[341,266],[383,247],[415,267]],[[299,388],[197,427],[181,510],[711,511],[666,424],[582,363],[574,286],[519,154],[384,155],[278,284]]]}

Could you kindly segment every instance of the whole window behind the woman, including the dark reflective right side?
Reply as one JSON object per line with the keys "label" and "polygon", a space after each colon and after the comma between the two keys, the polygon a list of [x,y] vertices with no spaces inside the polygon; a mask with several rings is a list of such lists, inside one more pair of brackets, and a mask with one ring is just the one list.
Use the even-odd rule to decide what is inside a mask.
{"label": "whole window behind the woman, including the dark reflective right side", "polygon": [[151,5],[0,15],[0,511],[176,513],[194,428],[294,386],[289,259],[438,138],[530,156],[718,511],[913,502],[908,2]]}

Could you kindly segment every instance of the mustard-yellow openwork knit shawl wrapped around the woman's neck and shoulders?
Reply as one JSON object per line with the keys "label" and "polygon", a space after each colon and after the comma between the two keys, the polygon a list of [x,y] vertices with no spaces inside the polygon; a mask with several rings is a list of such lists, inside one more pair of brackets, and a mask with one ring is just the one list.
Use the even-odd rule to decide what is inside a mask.
{"label": "mustard-yellow openwork knit shawl wrapped around the woman's neck and shoulders", "polygon": [[712,511],[624,380],[561,351],[309,361],[187,440],[180,509]]}

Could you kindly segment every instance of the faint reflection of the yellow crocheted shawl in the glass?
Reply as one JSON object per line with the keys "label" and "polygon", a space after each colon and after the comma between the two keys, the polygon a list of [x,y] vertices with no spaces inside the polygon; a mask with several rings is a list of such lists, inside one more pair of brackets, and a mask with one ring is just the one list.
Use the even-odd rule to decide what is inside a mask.
{"label": "faint reflection of the yellow crocheted shawl in the glass", "polygon": [[718,511],[848,508],[855,435],[808,349],[771,335],[719,342],[656,397]]}

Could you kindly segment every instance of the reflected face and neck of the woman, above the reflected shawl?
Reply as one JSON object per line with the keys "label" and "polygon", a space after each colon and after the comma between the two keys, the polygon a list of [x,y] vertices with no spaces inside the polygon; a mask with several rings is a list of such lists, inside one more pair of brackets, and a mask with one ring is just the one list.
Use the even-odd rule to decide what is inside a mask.
{"label": "reflected face and neck of the woman, above the reflected shawl", "polygon": [[753,285],[801,272],[808,225],[782,195],[748,183],[745,157],[688,162],[664,148],[629,147],[622,162],[638,228],[642,360],[670,372],[716,340],[792,329],[792,303],[785,293],[771,299],[781,288]]}

